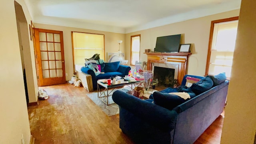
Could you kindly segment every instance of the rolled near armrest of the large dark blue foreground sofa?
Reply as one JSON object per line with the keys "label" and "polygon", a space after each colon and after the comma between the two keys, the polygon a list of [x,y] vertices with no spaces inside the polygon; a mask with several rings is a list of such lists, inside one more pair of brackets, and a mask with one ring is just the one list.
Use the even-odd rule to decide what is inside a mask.
{"label": "rolled near armrest of the large dark blue foreground sofa", "polygon": [[[142,119],[144,122],[148,122],[149,124],[157,126],[162,130],[172,130],[175,128],[178,114],[174,110],[168,110],[120,90],[116,90],[113,93],[112,99],[121,108],[128,110],[130,113]],[[121,108],[120,113],[122,110]]]}

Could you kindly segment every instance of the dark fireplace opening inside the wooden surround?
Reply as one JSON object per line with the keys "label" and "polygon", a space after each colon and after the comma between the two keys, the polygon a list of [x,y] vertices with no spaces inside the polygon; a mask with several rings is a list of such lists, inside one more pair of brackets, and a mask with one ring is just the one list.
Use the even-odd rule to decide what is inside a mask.
{"label": "dark fireplace opening inside the wooden surround", "polygon": [[156,86],[163,87],[173,87],[176,84],[176,80],[174,80],[174,72],[173,68],[163,68],[154,66],[154,82]]}

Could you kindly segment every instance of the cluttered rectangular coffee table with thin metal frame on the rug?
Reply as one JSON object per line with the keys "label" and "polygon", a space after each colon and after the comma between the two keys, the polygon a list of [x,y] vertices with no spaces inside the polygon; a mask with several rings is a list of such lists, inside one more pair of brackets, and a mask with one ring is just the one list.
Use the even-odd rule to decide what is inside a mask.
{"label": "cluttered rectangular coffee table with thin metal frame on the rug", "polygon": [[[103,86],[105,89],[103,91],[101,91],[100,86]],[[98,80],[97,81],[98,98],[102,102],[104,102],[104,104],[106,104],[106,105],[114,104],[115,102],[109,103],[108,97],[113,94],[113,90],[116,87],[120,87],[120,86],[129,86],[132,90],[134,90],[134,88],[136,86],[143,86],[144,87],[144,80],[143,81],[128,82],[128,83],[121,83],[121,84],[111,84],[111,85],[108,85],[107,83],[103,83],[100,80]],[[134,86],[134,88],[133,88],[133,86]],[[112,89],[108,90],[109,88],[112,88]]]}

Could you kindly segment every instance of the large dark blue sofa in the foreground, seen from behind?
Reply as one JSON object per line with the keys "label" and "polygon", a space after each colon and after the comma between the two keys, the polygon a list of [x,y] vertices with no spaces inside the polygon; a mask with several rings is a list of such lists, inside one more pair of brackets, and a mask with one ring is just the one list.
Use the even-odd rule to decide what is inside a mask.
{"label": "large dark blue sofa in the foreground, seen from behind", "polygon": [[[183,88],[187,76],[205,80],[204,77],[185,75],[181,86]],[[198,85],[203,84],[200,81],[197,82]],[[223,112],[229,81],[222,80],[219,83],[218,79],[215,81],[217,82],[211,82],[209,90],[201,94],[192,94],[192,92],[191,98],[184,101],[177,100],[177,106],[169,109],[168,106],[175,103],[164,108],[154,102],[155,98],[160,92],[166,95],[167,92],[175,92],[177,89],[167,88],[154,92],[153,97],[151,96],[154,99],[148,100],[141,100],[117,90],[112,99],[119,105],[122,132],[138,144],[193,144]],[[194,88],[198,85],[195,84]]]}

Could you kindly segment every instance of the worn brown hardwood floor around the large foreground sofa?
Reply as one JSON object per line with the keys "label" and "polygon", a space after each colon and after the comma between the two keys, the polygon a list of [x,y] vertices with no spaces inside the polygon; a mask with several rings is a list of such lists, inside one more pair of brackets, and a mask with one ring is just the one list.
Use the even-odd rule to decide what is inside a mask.
{"label": "worn brown hardwood floor around the large foreground sofa", "polygon": [[[83,87],[60,84],[40,88],[49,98],[28,107],[34,144],[133,144],[119,128],[119,114],[108,117]],[[219,144],[223,119],[219,116],[194,144]]]}

